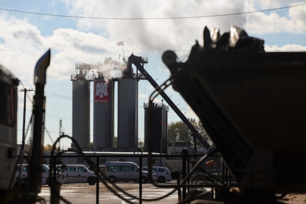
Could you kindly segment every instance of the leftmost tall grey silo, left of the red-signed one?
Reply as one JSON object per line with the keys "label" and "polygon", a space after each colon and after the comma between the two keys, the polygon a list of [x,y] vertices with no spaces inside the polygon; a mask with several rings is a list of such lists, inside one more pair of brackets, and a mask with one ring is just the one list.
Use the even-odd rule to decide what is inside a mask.
{"label": "leftmost tall grey silo, left of the red-signed one", "polygon": [[[90,147],[90,81],[85,70],[72,78],[72,136],[82,150]],[[74,145],[75,148],[75,145]]]}

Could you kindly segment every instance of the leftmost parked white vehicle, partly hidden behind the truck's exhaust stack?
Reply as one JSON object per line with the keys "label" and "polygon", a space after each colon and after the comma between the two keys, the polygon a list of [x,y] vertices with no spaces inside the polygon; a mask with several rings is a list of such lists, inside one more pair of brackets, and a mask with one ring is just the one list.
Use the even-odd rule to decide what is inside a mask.
{"label": "leftmost parked white vehicle, partly hidden behind the truck's exhaust stack", "polygon": [[[21,179],[25,179],[28,177],[28,169],[29,169],[29,164],[17,164],[16,166],[16,177],[17,178],[21,178]],[[20,172],[21,171],[21,172]],[[50,168],[45,165],[42,164],[41,165],[41,185],[48,185],[50,186]],[[66,179],[65,179],[65,174],[62,172],[56,172],[56,181],[60,184],[65,183]]]}

